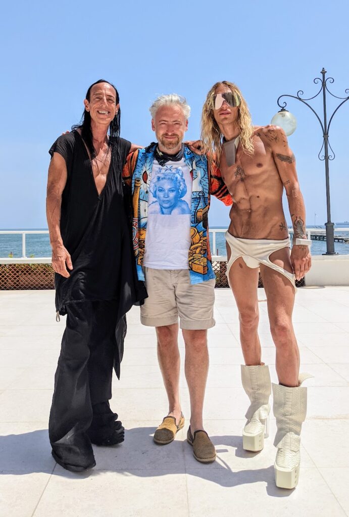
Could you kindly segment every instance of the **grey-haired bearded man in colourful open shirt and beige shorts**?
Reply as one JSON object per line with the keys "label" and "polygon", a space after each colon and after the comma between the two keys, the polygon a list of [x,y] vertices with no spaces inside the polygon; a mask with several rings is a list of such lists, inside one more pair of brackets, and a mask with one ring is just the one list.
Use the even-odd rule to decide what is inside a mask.
{"label": "grey-haired bearded man in colourful open shirt and beige shorts", "polygon": [[143,325],[155,327],[158,359],[169,412],[154,434],[169,444],[184,427],[179,400],[178,317],[186,347],[190,394],[187,440],[196,460],[210,463],[216,450],[203,428],[208,371],[207,329],[215,325],[215,273],[211,265],[207,214],[210,194],[226,205],[232,199],[219,171],[206,156],[183,144],[190,107],[184,97],[162,95],[150,107],[158,143],[128,156],[123,176],[133,195],[133,248],[138,278],[148,298]]}

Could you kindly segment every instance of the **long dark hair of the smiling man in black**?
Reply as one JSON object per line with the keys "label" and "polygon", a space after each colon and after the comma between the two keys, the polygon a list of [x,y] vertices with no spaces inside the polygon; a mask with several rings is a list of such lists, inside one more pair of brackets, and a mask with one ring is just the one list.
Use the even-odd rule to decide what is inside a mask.
{"label": "long dark hair of the smiling man in black", "polygon": [[[108,83],[114,88],[115,94],[116,94],[116,104],[118,104],[120,99],[119,99],[119,94],[118,94],[117,89],[115,88],[115,86],[112,83],[110,83],[109,81],[105,81],[105,79],[99,79],[98,81],[93,83],[88,88],[87,93],[86,93],[86,99],[88,100],[88,102],[90,100],[90,94],[91,94],[92,87],[95,86],[95,84],[99,84],[99,83]],[[116,113],[115,117],[113,118],[113,120],[111,121],[111,123],[109,125],[108,146],[111,147],[112,150],[113,150],[113,148],[117,149],[117,142],[118,142],[118,138],[120,136],[120,116],[121,116],[121,113],[120,113],[120,108],[119,108],[118,112]],[[71,127],[71,129],[72,129],[72,131],[74,129],[81,129],[81,136],[87,146],[87,149],[89,150],[91,160],[93,160],[96,157],[96,150],[95,150],[95,147],[93,145],[93,140],[92,140],[90,113],[88,111],[84,110],[80,123],[74,124]]]}

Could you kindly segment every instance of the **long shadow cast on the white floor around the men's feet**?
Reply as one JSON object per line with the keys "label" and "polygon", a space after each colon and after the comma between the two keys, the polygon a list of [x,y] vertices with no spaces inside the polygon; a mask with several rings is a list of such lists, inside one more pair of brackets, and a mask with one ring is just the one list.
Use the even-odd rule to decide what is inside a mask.
{"label": "long shadow cast on the white floor around the men's feet", "polygon": [[[123,444],[114,447],[94,447],[97,466],[82,474],[67,472],[55,463],[51,456],[47,429],[0,436],[0,475],[48,473],[68,478],[88,478],[98,476],[106,470],[138,477],[189,474],[224,487],[264,481],[268,495],[274,497],[289,496],[293,492],[276,487],[272,465],[265,468],[234,469],[234,457],[245,458],[246,466],[251,467],[253,458],[257,455],[242,449],[241,436],[212,436],[218,459],[208,465],[195,461],[184,433],[183,439],[177,437],[168,446],[157,446],[151,436],[154,431],[153,427],[129,429],[126,430]],[[224,447],[231,449],[229,451]],[[229,452],[229,463],[232,466],[222,458]]]}

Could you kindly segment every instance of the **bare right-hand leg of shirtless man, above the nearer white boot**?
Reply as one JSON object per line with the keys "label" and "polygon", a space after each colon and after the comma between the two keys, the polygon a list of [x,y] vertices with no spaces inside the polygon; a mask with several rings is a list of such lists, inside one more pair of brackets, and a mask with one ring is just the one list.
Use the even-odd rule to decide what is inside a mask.
{"label": "bare right-hand leg of shirtless man, above the nearer white boot", "polygon": [[[270,255],[271,262],[292,272],[290,251],[278,250]],[[278,271],[261,265],[267,295],[272,339],[276,345],[276,371],[283,386],[298,386],[299,351],[292,325],[295,292],[292,284]]]}

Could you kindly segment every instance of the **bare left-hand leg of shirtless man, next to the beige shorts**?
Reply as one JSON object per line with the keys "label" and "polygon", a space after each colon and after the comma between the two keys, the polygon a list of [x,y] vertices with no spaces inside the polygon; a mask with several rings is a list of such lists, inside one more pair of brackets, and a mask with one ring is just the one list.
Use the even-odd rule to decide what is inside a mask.
{"label": "bare left-hand leg of shirtless man, next to the beige shorts", "polygon": [[[229,260],[229,246],[227,246],[227,253]],[[258,273],[258,268],[251,269],[242,258],[238,258],[229,271],[229,281],[239,311],[241,348],[247,366],[261,364],[261,344],[257,333]]]}

